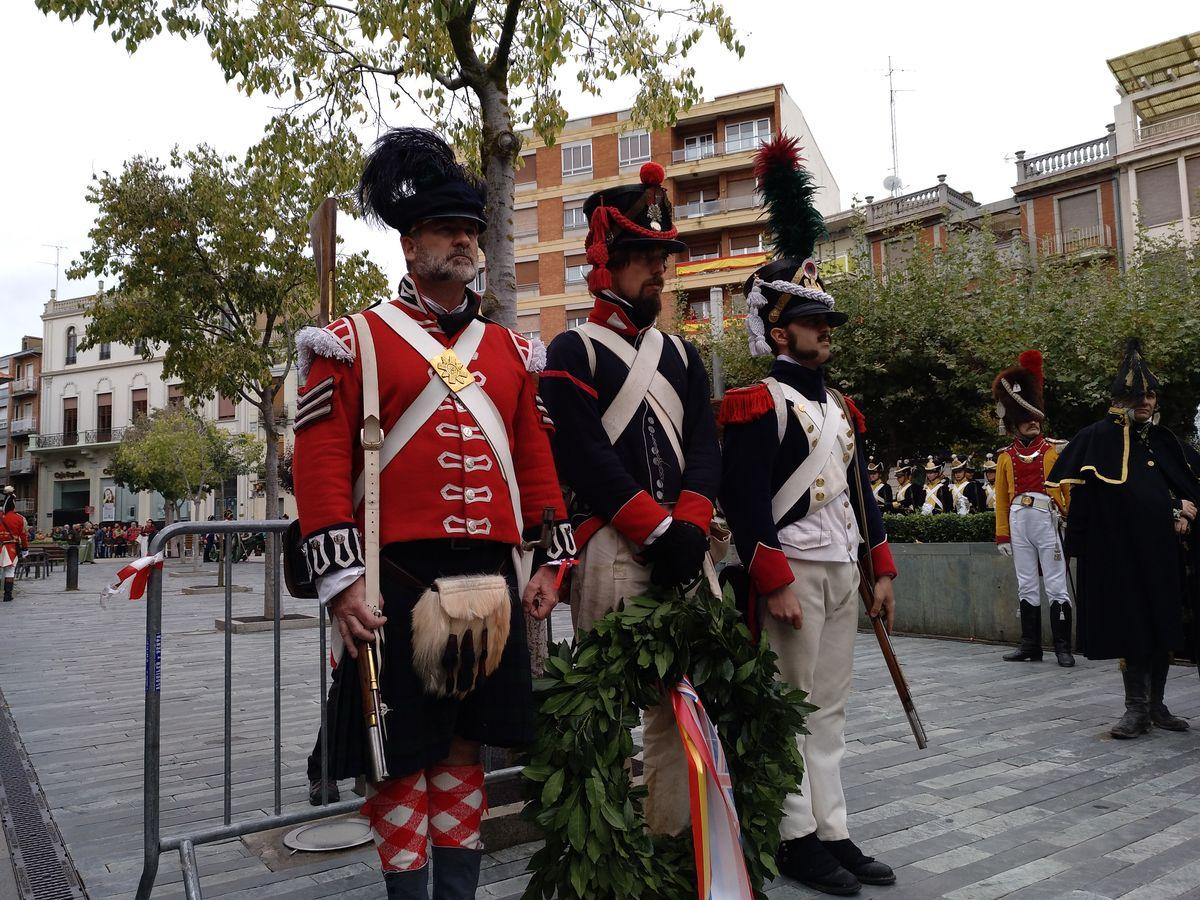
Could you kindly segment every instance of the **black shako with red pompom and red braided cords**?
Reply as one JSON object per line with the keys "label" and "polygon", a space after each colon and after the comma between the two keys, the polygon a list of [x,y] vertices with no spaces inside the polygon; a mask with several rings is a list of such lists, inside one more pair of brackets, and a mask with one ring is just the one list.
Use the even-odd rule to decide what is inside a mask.
{"label": "black shako with red pompom and red braided cords", "polygon": [[648,162],[638,172],[641,184],[596,191],[583,203],[588,217],[588,288],[593,294],[612,289],[608,258],[618,247],[661,247],[680,253],[688,245],[678,239],[671,216],[671,200],[662,187],[666,172]]}

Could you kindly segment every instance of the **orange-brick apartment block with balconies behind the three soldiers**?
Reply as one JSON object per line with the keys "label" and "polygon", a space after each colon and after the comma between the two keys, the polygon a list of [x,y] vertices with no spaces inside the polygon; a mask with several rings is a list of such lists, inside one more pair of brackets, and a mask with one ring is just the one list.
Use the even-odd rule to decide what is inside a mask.
{"label": "orange-brick apartment block with balconies behind the three soldiers", "polygon": [[583,239],[583,202],[605,186],[637,180],[650,160],[666,169],[676,224],[688,252],[676,258],[667,289],[682,294],[688,314],[706,318],[709,304],[726,307],[766,259],[763,224],[751,160],[780,130],[798,137],[821,185],[817,205],[840,208],[838,182],[804,115],[782,85],[698,103],[671,128],[632,128],[629,110],[575,119],[558,143],[526,134],[517,172],[517,330],[550,341],[586,318],[592,306]]}

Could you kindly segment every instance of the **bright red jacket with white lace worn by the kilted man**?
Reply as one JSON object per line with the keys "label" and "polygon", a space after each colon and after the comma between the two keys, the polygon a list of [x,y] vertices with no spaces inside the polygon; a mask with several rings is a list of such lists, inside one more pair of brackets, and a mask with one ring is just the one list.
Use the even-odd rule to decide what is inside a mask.
{"label": "bright red jacket with white lace worn by the kilted man", "polygon": [[[478,305],[478,298],[469,295]],[[443,334],[438,319],[406,278],[390,301],[442,346],[462,334]],[[430,362],[372,310],[370,323],[379,371],[384,434],[396,426],[432,377]],[[464,328],[474,317],[462,322]],[[534,370],[545,350],[506,328],[484,320],[476,352],[463,362],[505,424],[527,534],[541,527],[542,510],[554,511],[552,562],[575,552],[558,476],[550,451],[550,416],[536,396]],[[310,565],[317,576],[362,564],[362,506],[355,482],[362,472],[362,366],[360,335],[349,318],[298,337],[301,390],[295,419],[293,479]],[[311,362],[311,366],[310,366]],[[390,461],[380,458],[380,546],[437,538],[470,538],[517,544],[510,486],[479,422],[448,396]],[[536,560],[535,560],[536,562]]]}

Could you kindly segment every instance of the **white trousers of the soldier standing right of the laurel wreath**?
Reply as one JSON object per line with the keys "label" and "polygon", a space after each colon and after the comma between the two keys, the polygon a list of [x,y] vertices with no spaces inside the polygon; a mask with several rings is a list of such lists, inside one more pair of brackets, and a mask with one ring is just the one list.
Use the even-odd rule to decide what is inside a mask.
{"label": "white trousers of the soldier standing right of the laurel wreath", "polygon": [[796,630],[764,611],[767,637],[779,656],[780,676],[805,691],[818,709],[809,715],[809,733],[796,736],[804,757],[804,781],[799,793],[784,800],[780,839],[816,832],[824,841],[845,840],[850,832],[841,757],[846,754],[846,698],[858,634],[858,566],[800,559],[788,563],[804,625]]}

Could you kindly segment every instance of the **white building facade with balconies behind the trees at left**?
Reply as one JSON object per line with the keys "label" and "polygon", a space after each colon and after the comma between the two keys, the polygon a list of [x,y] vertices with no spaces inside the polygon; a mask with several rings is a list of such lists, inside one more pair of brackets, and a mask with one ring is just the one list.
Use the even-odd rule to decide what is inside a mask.
{"label": "white building facade with balconies behind the trees at left", "polygon": [[[30,442],[38,467],[40,530],[48,530],[55,510],[83,510],[91,522],[161,522],[164,502],[157,493],[134,493],[118,485],[112,458],[126,430],[142,415],[184,402],[179,379],[164,379],[160,352],[146,360],[132,346],[98,344],[80,350],[88,330],[88,308],[94,296],[52,299],[42,313],[41,424]],[[286,428],[280,445],[290,443],[290,415],[295,408],[294,372],[286,379],[276,403],[277,427]],[[200,403],[202,416],[232,433],[251,433],[264,439],[257,408],[245,400],[212,397]],[[215,491],[202,517],[232,510],[238,518],[266,514],[258,475],[241,475]],[[284,511],[295,516],[294,502],[286,498]],[[179,518],[192,516],[185,504]]]}

